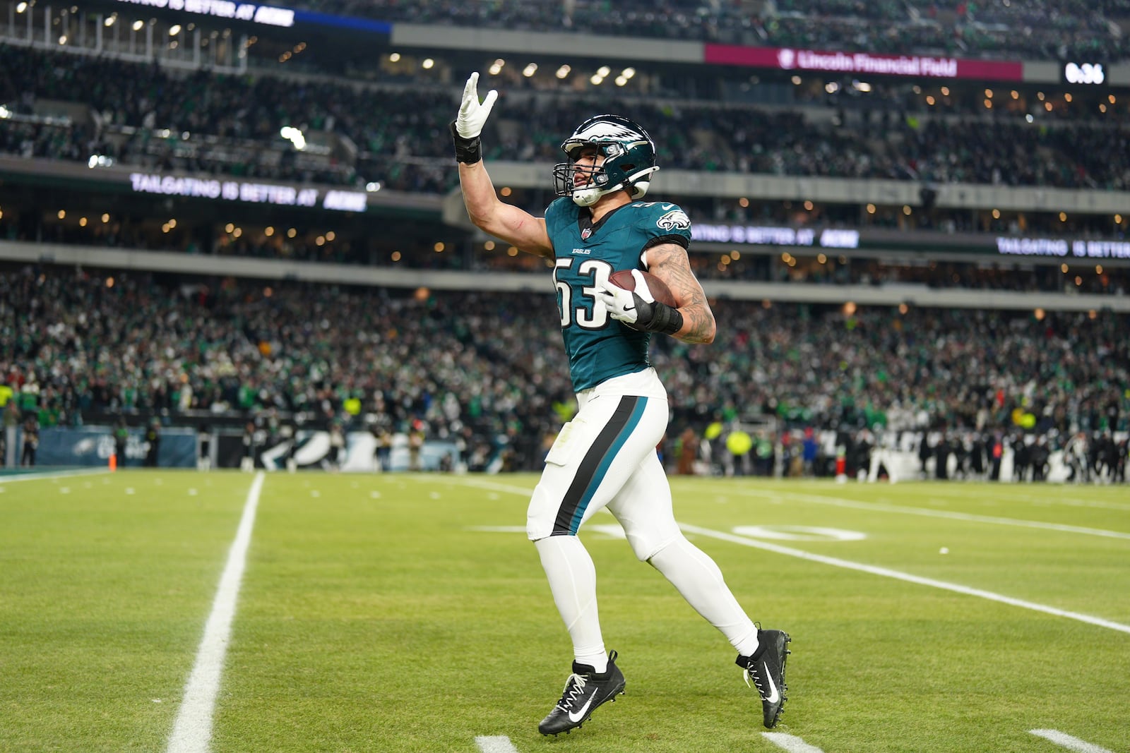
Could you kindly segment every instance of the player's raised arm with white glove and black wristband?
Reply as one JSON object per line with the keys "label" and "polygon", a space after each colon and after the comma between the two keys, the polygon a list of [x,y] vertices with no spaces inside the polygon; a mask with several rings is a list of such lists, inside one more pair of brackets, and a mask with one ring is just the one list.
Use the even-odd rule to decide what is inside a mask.
{"label": "player's raised arm with white glove and black wristband", "polygon": [[479,75],[471,73],[463,88],[459,115],[451,123],[451,135],[459,161],[459,185],[471,222],[485,233],[505,240],[520,251],[538,256],[553,256],[554,249],[546,230],[546,220],[498,199],[490,175],[483,165],[479,135],[498,93],[492,89],[480,103]]}

